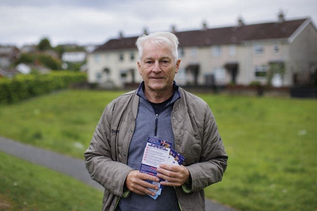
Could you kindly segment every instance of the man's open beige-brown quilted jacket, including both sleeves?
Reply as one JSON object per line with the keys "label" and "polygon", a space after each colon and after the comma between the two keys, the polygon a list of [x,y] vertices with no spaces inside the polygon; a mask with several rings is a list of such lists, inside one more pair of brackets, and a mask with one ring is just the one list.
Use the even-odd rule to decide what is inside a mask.
{"label": "man's open beige-brown quilted jacket, including both sleeves", "polygon": [[[182,88],[179,90],[181,98],[173,105],[171,122],[175,150],[185,157],[183,165],[190,172],[192,185],[187,191],[175,187],[176,194],[183,211],[203,211],[203,189],[221,181],[228,157],[208,104]],[[125,178],[133,170],[126,163],[138,104],[136,90],[110,102],[85,152],[91,177],[105,187],[103,211],[113,211],[119,197],[124,197]]]}

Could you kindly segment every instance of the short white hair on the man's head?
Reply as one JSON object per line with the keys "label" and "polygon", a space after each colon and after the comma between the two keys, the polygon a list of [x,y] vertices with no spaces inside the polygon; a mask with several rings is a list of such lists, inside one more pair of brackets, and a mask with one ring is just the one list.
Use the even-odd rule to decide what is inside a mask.
{"label": "short white hair on the man's head", "polygon": [[176,63],[178,59],[177,47],[179,42],[174,34],[170,32],[155,32],[150,35],[140,36],[136,42],[139,51],[139,61],[141,61],[141,57],[143,54],[143,45],[146,41],[151,42],[153,44],[157,44],[159,46],[167,45],[171,49],[172,55],[174,56]]}

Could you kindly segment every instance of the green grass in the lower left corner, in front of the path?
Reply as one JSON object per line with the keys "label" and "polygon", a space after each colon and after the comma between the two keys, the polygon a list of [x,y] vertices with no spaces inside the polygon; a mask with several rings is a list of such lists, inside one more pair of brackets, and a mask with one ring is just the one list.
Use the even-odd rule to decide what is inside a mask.
{"label": "green grass in the lower left corner, in front of the path", "polygon": [[0,211],[98,211],[103,193],[0,152]]}

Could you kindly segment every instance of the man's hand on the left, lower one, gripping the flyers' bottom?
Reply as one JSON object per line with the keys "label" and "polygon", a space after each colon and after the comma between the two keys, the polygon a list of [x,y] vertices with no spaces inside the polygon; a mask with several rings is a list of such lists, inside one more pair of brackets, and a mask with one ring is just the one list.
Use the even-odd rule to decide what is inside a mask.
{"label": "man's hand on the left, lower one, gripping the flyers' bottom", "polygon": [[134,193],[141,194],[141,195],[150,194],[152,196],[155,196],[155,193],[150,191],[148,188],[158,190],[159,187],[145,180],[152,180],[155,182],[159,182],[159,178],[156,176],[152,176],[146,173],[141,173],[138,170],[132,170],[127,175],[127,178],[125,180],[125,185],[130,191]]}

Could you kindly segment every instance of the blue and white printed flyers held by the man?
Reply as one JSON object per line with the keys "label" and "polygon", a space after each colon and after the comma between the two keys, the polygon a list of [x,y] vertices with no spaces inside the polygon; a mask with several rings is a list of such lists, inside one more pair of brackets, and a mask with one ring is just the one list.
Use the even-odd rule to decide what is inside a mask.
{"label": "blue and white printed flyers held by the man", "polygon": [[[171,143],[168,141],[149,137],[144,150],[140,172],[156,176],[158,174],[157,168],[160,164],[180,166],[185,158],[181,154],[177,153],[175,150],[170,149],[170,147]],[[163,186],[160,185],[159,182],[154,182],[150,180],[148,180],[148,182],[159,186],[159,190],[149,188],[149,190],[153,191],[156,194],[155,196],[149,196],[153,199],[157,199],[158,196],[161,194]]]}

